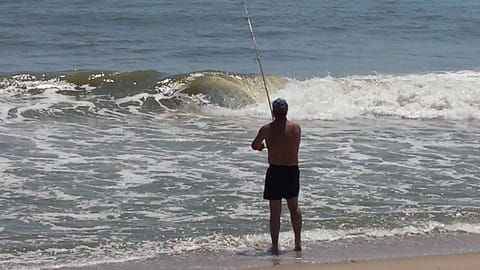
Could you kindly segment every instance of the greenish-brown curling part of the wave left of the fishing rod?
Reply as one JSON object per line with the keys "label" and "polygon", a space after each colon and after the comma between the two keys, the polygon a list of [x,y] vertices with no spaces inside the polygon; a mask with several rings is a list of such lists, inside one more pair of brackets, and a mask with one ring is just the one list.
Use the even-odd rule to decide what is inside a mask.
{"label": "greenish-brown curling part of the wave left of the fishing rod", "polygon": [[[268,76],[267,82],[274,92],[286,80]],[[261,100],[263,91],[258,75],[220,71],[15,74],[0,77],[0,119],[152,114],[205,104],[238,109]]]}

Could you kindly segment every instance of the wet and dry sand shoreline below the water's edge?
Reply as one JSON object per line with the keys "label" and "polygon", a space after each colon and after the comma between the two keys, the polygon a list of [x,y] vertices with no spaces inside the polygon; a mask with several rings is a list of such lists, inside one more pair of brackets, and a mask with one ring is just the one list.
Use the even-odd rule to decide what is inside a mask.
{"label": "wet and dry sand shoreline below the water's edge", "polygon": [[[290,247],[290,246],[288,246]],[[293,249],[293,247],[291,247]],[[464,262],[463,262],[464,261]],[[396,267],[396,268],[394,268]],[[480,235],[442,234],[305,243],[301,252],[286,245],[280,255],[267,250],[158,255],[128,261],[50,266],[62,270],[478,270]]]}

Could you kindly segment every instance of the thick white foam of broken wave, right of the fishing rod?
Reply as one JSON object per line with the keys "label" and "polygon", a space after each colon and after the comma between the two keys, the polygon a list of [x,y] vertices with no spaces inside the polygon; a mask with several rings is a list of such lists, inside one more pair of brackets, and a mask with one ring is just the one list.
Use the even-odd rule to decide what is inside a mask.
{"label": "thick white foam of broken wave, right of the fishing rod", "polygon": [[[480,72],[459,71],[406,75],[290,80],[275,93],[289,102],[293,119],[341,120],[361,116],[408,119],[480,119]],[[219,114],[268,118],[265,101],[240,112]]]}

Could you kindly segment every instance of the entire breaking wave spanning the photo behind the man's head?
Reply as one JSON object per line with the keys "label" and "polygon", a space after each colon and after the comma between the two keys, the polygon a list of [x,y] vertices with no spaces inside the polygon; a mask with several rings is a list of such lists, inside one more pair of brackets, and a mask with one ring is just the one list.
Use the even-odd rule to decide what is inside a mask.
{"label": "entire breaking wave spanning the photo behind the man's head", "polygon": [[[480,72],[315,77],[267,76],[272,97],[285,97],[295,119],[356,117],[480,119]],[[199,111],[268,117],[258,74],[157,71],[8,74],[0,76],[0,120]],[[265,112],[267,111],[267,112]]]}

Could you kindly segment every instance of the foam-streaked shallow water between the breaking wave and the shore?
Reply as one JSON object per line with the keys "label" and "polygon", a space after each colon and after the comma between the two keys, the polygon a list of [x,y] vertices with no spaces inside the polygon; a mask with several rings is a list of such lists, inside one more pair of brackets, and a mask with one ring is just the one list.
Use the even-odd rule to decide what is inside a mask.
{"label": "foam-streaked shallow water between the breaking wave and the shore", "polygon": [[[4,265],[268,248],[263,120],[169,116],[2,126]],[[475,122],[300,122],[305,245],[478,233]]]}

